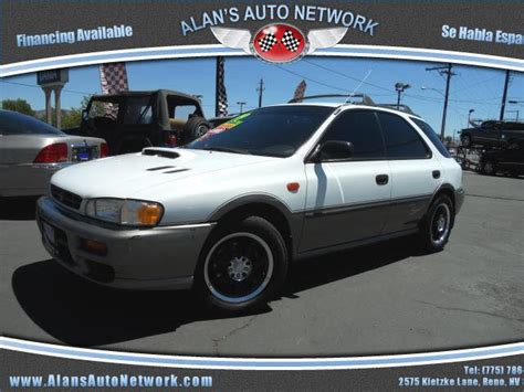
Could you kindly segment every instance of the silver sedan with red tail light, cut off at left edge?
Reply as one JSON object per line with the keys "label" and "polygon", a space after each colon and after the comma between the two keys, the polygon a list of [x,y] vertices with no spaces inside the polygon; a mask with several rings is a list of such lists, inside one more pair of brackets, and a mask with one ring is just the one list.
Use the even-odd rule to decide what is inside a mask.
{"label": "silver sedan with red tail light, cut off at left edge", "polygon": [[57,170],[106,155],[103,139],[67,136],[33,117],[0,110],[0,197],[44,194]]}

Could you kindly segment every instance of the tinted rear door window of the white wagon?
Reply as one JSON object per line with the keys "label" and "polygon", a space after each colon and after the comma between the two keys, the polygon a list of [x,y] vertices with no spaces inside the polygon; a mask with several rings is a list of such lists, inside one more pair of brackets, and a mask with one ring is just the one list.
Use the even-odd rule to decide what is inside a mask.
{"label": "tinted rear door window of the white wagon", "polygon": [[400,116],[378,112],[389,159],[429,158],[430,151],[417,131]]}

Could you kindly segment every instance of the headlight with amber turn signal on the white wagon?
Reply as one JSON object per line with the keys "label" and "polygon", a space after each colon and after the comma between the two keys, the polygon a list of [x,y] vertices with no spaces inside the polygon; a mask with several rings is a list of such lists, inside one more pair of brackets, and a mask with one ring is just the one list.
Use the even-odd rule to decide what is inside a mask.
{"label": "headlight with amber turn signal on the white wagon", "polygon": [[151,201],[92,199],[87,201],[85,213],[106,222],[133,226],[154,226],[160,221],[164,208]]}

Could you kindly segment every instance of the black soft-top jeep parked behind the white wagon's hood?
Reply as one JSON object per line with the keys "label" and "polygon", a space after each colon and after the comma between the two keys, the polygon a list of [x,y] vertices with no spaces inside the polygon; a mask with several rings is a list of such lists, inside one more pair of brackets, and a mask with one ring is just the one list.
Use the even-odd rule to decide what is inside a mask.
{"label": "black soft-top jeep parked behind the white wagon's hood", "polygon": [[158,89],[94,95],[80,128],[67,133],[104,138],[109,155],[119,155],[151,146],[181,146],[210,128],[196,96]]}

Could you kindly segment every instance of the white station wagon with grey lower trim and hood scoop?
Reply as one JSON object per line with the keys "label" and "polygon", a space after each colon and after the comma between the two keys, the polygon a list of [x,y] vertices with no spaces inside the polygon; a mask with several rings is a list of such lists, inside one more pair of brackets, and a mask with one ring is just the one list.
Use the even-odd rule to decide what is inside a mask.
{"label": "white station wagon with grey lower trim and hood scoop", "polygon": [[192,287],[228,311],[268,301],[292,261],[415,233],[442,250],[464,192],[431,127],[370,100],[305,102],[61,170],[38,202],[44,246],[98,284]]}

